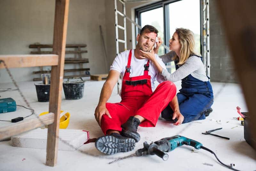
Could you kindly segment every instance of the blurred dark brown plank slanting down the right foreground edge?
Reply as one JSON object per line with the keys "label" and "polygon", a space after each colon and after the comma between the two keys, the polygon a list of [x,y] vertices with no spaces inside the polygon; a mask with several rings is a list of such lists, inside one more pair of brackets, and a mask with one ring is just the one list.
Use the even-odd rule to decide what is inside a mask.
{"label": "blurred dark brown plank slanting down the right foreground edge", "polygon": [[247,127],[251,128],[250,145],[256,149],[256,1],[241,3],[240,0],[218,0],[217,5],[250,113],[247,122]]}

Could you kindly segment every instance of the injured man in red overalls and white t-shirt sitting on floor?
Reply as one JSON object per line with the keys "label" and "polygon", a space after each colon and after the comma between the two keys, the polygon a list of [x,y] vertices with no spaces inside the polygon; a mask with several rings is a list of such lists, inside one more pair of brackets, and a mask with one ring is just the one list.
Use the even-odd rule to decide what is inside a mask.
{"label": "injured man in red overalls and white t-shirt sitting on floor", "polygon": [[[174,125],[181,124],[184,119],[179,110],[176,86],[171,81],[165,81],[154,64],[140,53],[140,50],[154,53],[157,33],[155,27],[144,26],[137,35],[136,49],[118,54],[110,67],[94,114],[105,134],[96,140],[95,146],[105,154],[133,150],[135,142],[140,140],[138,126],[155,127],[160,113],[167,105],[174,111]],[[155,57],[166,69],[157,54]],[[120,74],[122,100],[119,103],[107,103]],[[155,80],[160,84],[153,93]]]}

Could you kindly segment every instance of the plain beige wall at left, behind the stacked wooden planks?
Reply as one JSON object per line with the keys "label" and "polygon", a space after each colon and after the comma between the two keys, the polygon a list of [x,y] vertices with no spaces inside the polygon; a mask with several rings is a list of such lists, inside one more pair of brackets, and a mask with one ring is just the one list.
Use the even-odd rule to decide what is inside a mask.
{"label": "plain beige wall at left, behind the stacked wooden planks", "polygon": [[[0,1],[0,54],[29,54],[29,44],[39,42],[52,44],[55,1],[53,0],[1,0]],[[72,0],[69,4],[67,43],[85,43],[89,58],[83,64],[91,74],[106,73],[100,28],[106,41],[105,0]],[[74,57],[70,54],[67,57]],[[65,69],[78,68],[68,64]],[[44,67],[47,69],[47,67]],[[48,67],[49,69],[49,67]],[[29,81],[39,67],[15,68],[11,72],[16,81]],[[0,70],[0,81],[11,79],[4,69]]]}

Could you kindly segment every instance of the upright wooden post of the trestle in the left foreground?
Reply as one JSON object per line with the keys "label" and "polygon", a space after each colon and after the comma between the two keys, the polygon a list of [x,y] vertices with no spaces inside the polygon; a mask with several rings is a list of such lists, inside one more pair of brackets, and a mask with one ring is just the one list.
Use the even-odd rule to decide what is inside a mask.
{"label": "upright wooden post of the trestle in the left foreground", "polygon": [[57,164],[60,105],[68,26],[68,5],[69,0],[55,1],[53,53],[59,55],[59,63],[58,66],[52,66],[51,71],[52,76],[50,86],[49,112],[53,112],[55,115],[54,123],[48,125],[46,149],[47,166],[55,166]]}

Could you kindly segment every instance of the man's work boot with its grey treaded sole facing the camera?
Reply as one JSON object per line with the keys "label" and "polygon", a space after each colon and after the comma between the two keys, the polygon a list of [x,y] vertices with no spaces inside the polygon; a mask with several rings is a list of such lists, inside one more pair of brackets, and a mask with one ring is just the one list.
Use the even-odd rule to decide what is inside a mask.
{"label": "man's work boot with its grey treaded sole facing the camera", "polygon": [[117,152],[132,151],[135,146],[135,140],[123,137],[118,133],[111,133],[100,137],[95,142],[95,147],[105,154],[116,154]]}

